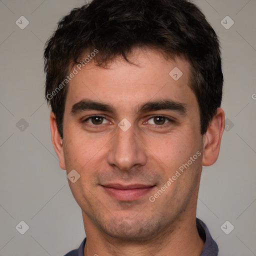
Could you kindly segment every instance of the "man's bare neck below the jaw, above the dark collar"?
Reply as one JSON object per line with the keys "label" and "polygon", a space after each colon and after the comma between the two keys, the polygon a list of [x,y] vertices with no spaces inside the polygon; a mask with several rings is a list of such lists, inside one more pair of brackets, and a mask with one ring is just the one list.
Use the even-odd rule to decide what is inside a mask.
{"label": "man's bare neck below the jaw, above the dark collar", "polygon": [[126,241],[111,237],[102,233],[84,213],[82,214],[84,223],[86,223],[87,237],[84,256],[145,256],[148,254],[154,256],[198,256],[203,249],[204,243],[197,232],[195,214],[185,219],[179,217],[165,230],[143,241]]}

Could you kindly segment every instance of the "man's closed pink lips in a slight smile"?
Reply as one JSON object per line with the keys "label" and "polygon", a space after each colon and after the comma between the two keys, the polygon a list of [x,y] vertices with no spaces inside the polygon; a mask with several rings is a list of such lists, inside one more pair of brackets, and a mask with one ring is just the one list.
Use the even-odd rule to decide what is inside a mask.
{"label": "man's closed pink lips in a slight smile", "polygon": [[119,183],[111,183],[101,186],[111,197],[120,201],[135,200],[150,192],[154,187],[154,185]]}

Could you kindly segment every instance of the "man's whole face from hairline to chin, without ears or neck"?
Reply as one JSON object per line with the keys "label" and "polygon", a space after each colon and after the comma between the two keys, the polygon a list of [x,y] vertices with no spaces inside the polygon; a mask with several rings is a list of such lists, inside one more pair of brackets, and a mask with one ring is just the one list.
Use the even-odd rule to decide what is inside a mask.
{"label": "man's whole face from hairline to chin, without ears or neck", "polygon": [[[70,81],[60,165],[80,174],[69,185],[86,222],[114,237],[145,239],[194,210],[202,137],[188,62],[152,50],[132,56],[138,65],[91,62]],[[176,67],[179,78],[177,69],[169,75]]]}

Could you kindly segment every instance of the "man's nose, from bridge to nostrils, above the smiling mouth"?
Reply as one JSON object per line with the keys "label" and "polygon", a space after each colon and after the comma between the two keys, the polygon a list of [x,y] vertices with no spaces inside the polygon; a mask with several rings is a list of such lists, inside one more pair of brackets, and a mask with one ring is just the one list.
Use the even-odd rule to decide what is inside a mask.
{"label": "man's nose, from bridge to nostrils, above the smiling mouth", "polygon": [[139,138],[138,132],[131,125],[126,131],[116,127],[115,136],[109,142],[107,161],[110,165],[117,166],[122,171],[146,163],[145,145]]}

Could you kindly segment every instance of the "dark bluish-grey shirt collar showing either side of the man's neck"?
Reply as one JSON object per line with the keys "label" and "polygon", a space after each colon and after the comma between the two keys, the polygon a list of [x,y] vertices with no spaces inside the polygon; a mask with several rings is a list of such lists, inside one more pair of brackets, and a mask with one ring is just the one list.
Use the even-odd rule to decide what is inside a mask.
{"label": "dark bluish-grey shirt collar showing either side of the man's neck", "polygon": [[[207,226],[200,219],[196,218],[196,227],[200,237],[204,241],[203,250],[200,256],[217,256],[218,245],[212,239]],[[82,241],[78,249],[71,250],[64,256],[84,256],[83,248],[84,248],[85,242],[86,242],[86,237],[84,238],[84,240]]]}

